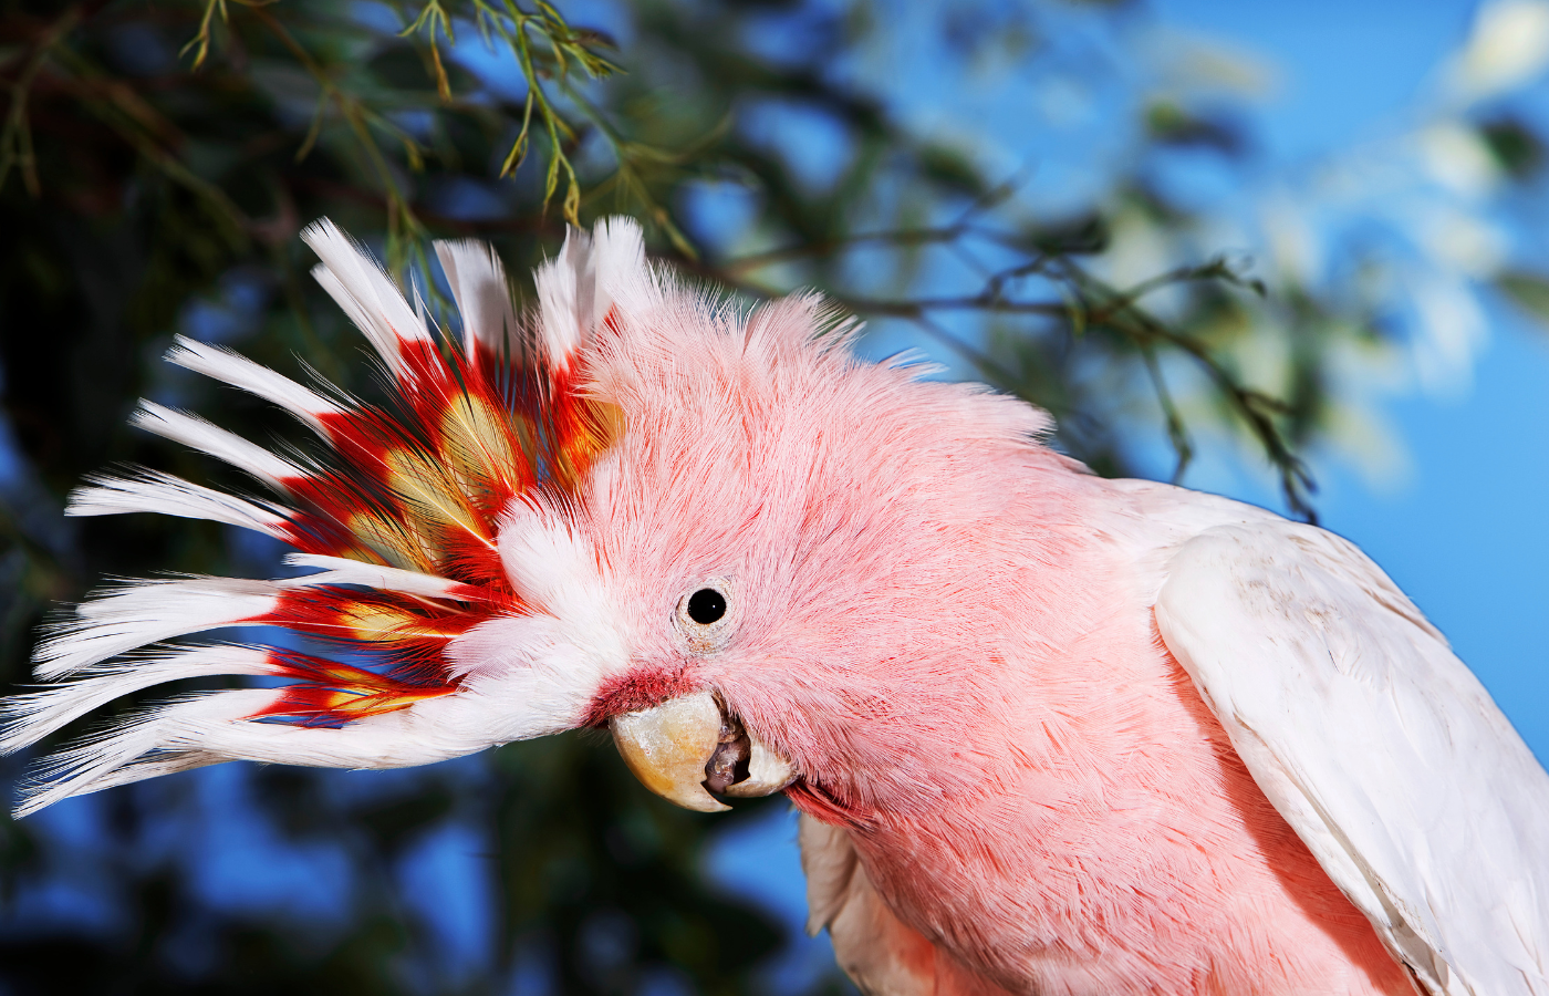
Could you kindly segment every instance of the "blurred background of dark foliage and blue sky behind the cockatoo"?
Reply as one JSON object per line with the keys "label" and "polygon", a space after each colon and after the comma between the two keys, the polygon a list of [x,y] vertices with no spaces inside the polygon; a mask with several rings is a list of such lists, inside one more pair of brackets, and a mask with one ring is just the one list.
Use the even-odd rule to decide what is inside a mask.
{"label": "blurred background of dark foliage and blue sky behind the cockatoo", "polygon": [[[1549,757],[1546,65],[1546,0],[0,0],[0,669],[104,578],[279,573],[62,508],[112,463],[229,480],[139,397],[294,438],[173,333],[372,393],[302,225],[445,311],[429,239],[527,274],[629,212],[1103,474],[1352,537]],[[804,915],[784,801],[675,810],[595,736],[0,818],[0,996],[852,991]]]}

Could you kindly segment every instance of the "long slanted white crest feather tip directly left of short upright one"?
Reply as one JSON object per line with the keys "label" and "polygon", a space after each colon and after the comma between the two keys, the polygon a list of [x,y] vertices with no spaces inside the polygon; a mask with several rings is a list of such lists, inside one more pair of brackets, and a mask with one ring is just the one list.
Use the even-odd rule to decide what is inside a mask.
{"label": "long slanted white crest feather tip directly left of short upright one", "polygon": [[429,341],[424,321],[414,313],[381,265],[338,225],[319,218],[301,237],[322,260],[311,276],[344,308],[387,367],[401,375],[400,342]]}

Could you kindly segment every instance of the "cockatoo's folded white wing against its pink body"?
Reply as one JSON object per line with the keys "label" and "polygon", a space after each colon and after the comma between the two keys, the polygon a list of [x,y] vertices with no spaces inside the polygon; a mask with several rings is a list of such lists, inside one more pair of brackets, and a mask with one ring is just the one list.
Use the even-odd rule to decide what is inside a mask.
{"label": "cockatoo's folded white wing against its pink body", "polygon": [[1549,776],[1352,544],[1273,522],[1168,564],[1157,626],[1231,745],[1431,996],[1549,994]]}

